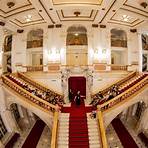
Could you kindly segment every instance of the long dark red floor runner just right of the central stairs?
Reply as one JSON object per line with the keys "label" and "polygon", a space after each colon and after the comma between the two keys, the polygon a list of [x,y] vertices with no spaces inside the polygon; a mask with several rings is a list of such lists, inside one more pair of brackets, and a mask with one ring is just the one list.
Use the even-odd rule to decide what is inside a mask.
{"label": "long dark red floor runner just right of the central stairs", "polygon": [[126,130],[120,119],[115,118],[112,121],[112,125],[124,148],[138,148],[137,144]]}

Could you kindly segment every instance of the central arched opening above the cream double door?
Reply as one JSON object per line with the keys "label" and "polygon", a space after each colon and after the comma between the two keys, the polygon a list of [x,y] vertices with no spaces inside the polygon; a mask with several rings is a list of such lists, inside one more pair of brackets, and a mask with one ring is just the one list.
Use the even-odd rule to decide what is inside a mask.
{"label": "central arched opening above the cream double door", "polygon": [[87,30],[83,26],[71,26],[67,30],[66,45],[87,45]]}

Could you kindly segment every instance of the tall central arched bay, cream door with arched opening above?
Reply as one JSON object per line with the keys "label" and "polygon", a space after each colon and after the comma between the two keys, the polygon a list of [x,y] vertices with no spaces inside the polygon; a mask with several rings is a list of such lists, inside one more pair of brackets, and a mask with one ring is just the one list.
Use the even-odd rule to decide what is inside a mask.
{"label": "tall central arched bay, cream door with arched opening above", "polygon": [[87,30],[81,25],[71,26],[67,30],[66,64],[70,66],[87,65]]}

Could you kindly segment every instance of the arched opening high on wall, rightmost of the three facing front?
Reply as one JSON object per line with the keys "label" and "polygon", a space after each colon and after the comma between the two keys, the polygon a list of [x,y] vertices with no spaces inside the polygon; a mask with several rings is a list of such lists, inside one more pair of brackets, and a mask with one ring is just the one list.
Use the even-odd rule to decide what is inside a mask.
{"label": "arched opening high on wall, rightmost of the three facing front", "polygon": [[127,35],[124,30],[111,30],[111,46],[112,47],[127,47]]}

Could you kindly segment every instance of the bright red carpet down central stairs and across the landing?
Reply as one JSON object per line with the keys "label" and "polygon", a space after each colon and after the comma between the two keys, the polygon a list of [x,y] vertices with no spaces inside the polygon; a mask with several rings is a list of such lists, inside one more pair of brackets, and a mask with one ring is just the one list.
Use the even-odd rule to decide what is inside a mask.
{"label": "bright red carpet down central stairs and across the landing", "polygon": [[91,107],[85,107],[84,101],[80,106],[72,102],[71,107],[64,107],[62,112],[70,113],[69,120],[69,148],[89,148],[86,112]]}

